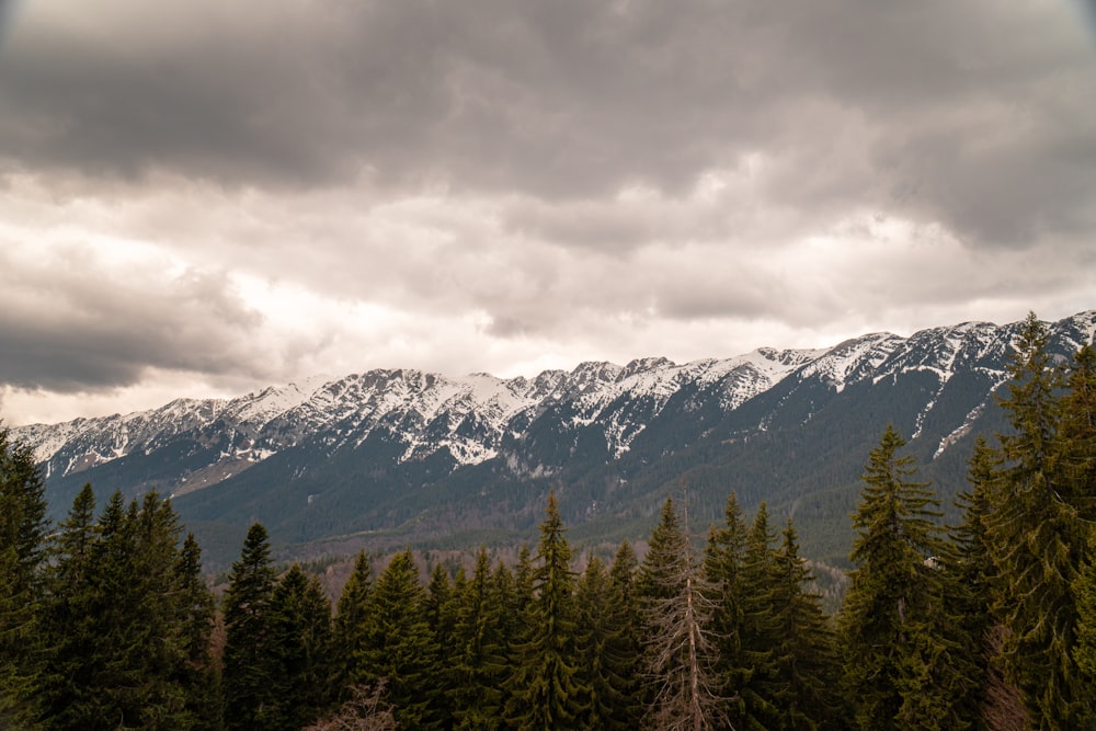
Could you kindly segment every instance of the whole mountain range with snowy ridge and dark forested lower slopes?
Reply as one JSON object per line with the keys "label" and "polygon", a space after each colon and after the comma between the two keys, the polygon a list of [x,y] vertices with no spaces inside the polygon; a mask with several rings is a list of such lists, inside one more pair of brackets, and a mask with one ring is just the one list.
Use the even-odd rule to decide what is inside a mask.
{"label": "whole mountain range with snowy ridge and dark forested lower slopes", "polygon": [[[12,432],[35,448],[55,513],[88,481],[101,495],[157,489],[213,544],[256,518],[286,542],[504,539],[539,519],[549,488],[591,539],[641,535],[683,477],[701,517],[733,489],[747,505],[796,512],[809,533],[804,511],[808,524],[847,517],[887,423],[941,493],[961,489],[966,442],[1000,427],[993,393],[1018,327],[968,322],[682,365],[583,363],[533,378],[370,370]],[[1096,310],[1050,330],[1069,358],[1092,342]]]}

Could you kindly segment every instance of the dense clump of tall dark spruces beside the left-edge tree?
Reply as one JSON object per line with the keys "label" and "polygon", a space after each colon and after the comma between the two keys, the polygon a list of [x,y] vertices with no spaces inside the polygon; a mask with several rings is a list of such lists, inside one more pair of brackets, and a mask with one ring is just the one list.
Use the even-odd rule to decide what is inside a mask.
{"label": "dense clump of tall dark spruces beside the left-edge tree", "polygon": [[[90,486],[62,524],[43,615],[49,644],[43,719],[50,729],[209,728],[202,662],[212,624],[195,585],[194,546],[179,550],[171,504],[149,493],[138,505],[121,493],[91,523]],[[204,635],[203,635],[204,633]],[[209,671],[208,664],[204,670]]]}

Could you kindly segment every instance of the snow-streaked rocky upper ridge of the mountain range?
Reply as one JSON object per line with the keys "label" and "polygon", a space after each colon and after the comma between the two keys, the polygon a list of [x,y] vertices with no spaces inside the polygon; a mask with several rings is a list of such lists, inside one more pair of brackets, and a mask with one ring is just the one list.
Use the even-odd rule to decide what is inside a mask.
{"label": "snow-streaked rocky upper ridge of the mountain range", "polygon": [[[730,413],[788,378],[820,382],[840,393],[864,380],[878,384],[911,373],[935,384],[936,396],[918,416],[920,430],[956,373],[980,372],[992,385],[1002,381],[1002,363],[1017,329],[1018,323],[966,322],[909,338],[870,333],[817,350],[758,347],[685,364],[665,357],[624,366],[586,362],[570,372],[509,379],[377,369],[317,376],[233,399],[179,399],[144,412],[12,431],[33,446],[50,476],[151,454],[185,439],[217,446],[214,461],[220,461],[202,469],[222,479],[305,442],[330,450],[356,448],[375,433],[398,434],[403,460],[444,453],[457,465],[472,465],[499,456],[509,441],[524,438],[530,424],[549,412],[566,419],[568,429],[596,427],[608,454],[619,457],[678,395],[713,399]],[[1092,342],[1096,310],[1051,329],[1066,347]]]}

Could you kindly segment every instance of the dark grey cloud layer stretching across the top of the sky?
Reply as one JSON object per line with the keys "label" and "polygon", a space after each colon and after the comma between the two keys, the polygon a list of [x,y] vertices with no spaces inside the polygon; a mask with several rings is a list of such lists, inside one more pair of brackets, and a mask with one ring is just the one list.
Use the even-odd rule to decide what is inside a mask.
{"label": "dark grey cloud layer stretching across the top of the sky", "polygon": [[775,201],[972,244],[1093,222],[1096,60],[1069,3],[105,4],[26,9],[0,76],[9,164],[573,198],[764,151]]}

